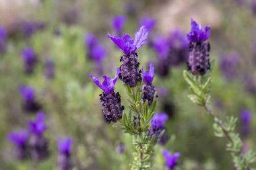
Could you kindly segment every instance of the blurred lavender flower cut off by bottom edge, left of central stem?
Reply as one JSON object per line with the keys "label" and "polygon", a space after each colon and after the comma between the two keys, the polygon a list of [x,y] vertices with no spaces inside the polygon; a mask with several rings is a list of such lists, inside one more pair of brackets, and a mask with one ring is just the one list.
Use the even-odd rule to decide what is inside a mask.
{"label": "blurred lavender flower cut off by bottom edge, left of central stem", "polygon": [[59,161],[58,161],[59,169],[60,170],[72,169],[71,138],[67,136],[65,137],[64,141],[61,138],[58,138],[58,145],[59,145]]}

